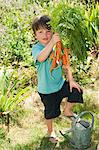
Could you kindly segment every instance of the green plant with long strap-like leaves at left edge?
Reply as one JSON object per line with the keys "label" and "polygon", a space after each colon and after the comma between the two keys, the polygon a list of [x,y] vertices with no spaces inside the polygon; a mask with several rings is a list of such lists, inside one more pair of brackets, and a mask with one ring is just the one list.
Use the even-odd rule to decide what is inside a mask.
{"label": "green plant with long strap-like leaves at left edge", "polygon": [[29,86],[16,92],[18,80],[13,80],[13,76],[13,72],[7,74],[6,69],[4,69],[0,78],[0,112],[18,109],[20,102],[30,95]]}

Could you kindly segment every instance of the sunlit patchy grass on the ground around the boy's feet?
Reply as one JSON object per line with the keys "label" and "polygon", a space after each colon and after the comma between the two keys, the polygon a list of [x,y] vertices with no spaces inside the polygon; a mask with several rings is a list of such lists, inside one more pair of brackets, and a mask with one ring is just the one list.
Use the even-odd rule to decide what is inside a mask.
{"label": "sunlit patchy grass on the ground around the boy's feet", "polygon": [[[64,101],[62,102],[61,110],[64,106]],[[96,145],[99,144],[99,116],[94,113],[94,117],[92,145],[89,150],[96,150]],[[74,150],[68,140],[59,132],[59,130],[66,131],[71,127],[70,121],[63,117],[63,112],[59,118],[55,119],[57,135],[61,140],[57,144],[48,142],[47,129],[43,118],[43,105],[38,99],[35,99],[33,106],[21,114],[17,120],[17,124],[10,122],[9,133],[0,130],[0,150]],[[6,129],[6,126],[4,129]]]}

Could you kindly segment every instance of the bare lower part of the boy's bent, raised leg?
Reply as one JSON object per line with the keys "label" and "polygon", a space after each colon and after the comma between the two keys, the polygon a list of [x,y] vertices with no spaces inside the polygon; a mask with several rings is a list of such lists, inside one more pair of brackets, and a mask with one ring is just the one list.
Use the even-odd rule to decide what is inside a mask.
{"label": "bare lower part of the boy's bent, raised leg", "polygon": [[73,107],[75,106],[75,103],[67,102],[66,106],[64,108],[64,115],[65,116],[73,116]]}

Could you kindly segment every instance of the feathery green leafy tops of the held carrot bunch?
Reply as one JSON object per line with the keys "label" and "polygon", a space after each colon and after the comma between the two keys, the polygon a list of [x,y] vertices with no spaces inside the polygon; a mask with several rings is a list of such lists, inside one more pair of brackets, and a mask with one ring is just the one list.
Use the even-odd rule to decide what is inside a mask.
{"label": "feathery green leafy tops of the held carrot bunch", "polygon": [[62,1],[51,7],[51,18],[50,24],[54,32],[60,34],[63,44],[84,61],[91,45],[91,35],[86,27],[83,7]]}

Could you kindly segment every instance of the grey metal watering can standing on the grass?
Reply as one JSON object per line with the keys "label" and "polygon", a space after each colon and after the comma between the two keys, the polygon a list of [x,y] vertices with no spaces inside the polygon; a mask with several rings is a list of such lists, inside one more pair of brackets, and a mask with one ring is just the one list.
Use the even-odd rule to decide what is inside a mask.
{"label": "grey metal watering can standing on the grass", "polygon": [[[90,115],[91,122],[82,120],[86,114]],[[70,144],[74,149],[84,150],[91,145],[91,136],[94,125],[94,116],[89,111],[81,112],[77,118],[72,122],[72,128],[65,132],[60,131],[61,135],[65,139],[69,140]],[[69,135],[70,134],[70,135]]]}

